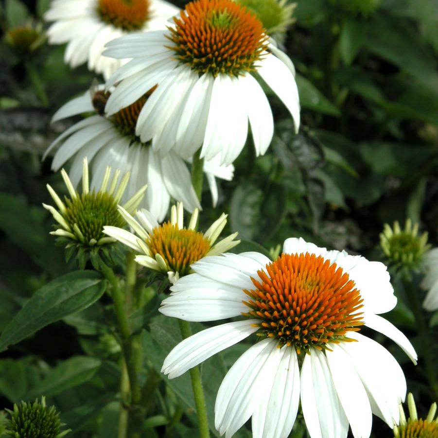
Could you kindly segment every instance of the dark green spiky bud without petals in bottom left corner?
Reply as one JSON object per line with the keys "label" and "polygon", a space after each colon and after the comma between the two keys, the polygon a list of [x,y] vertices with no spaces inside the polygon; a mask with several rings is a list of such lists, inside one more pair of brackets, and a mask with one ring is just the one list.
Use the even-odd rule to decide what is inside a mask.
{"label": "dark green spiky bud without petals in bottom left corner", "polygon": [[41,402],[21,402],[14,404],[14,410],[7,409],[10,418],[7,421],[6,437],[11,438],[62,438],[69,430],[62,431],[64,423],[54,406],[47,407],[46,399]]}

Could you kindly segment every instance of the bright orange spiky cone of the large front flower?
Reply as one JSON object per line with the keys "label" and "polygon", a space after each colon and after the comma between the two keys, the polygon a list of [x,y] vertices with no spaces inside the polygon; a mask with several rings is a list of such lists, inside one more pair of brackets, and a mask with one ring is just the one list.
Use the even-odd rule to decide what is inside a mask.
{"label": "bright orange spiky cone of the large front flower", "polygon": [[281,254],[266,272],[251,278],[255,289],[244,290],[251,309],[245,316],[261,319],[261,335],[293,346],[298,354],[328,349],[328,343],[351,341],[350,331],[364,324],[363,299],[342,268],[315,254]]}

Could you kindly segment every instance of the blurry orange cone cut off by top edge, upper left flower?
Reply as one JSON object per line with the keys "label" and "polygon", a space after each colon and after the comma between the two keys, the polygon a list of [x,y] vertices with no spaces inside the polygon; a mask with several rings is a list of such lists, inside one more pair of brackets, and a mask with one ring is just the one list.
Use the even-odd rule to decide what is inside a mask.
{"label": "blurry orange cone cut off by top edge, upper left flower", "polygon": [[149,18],[149,0],[98,0],[97,13],[105,23],[139,30]]}

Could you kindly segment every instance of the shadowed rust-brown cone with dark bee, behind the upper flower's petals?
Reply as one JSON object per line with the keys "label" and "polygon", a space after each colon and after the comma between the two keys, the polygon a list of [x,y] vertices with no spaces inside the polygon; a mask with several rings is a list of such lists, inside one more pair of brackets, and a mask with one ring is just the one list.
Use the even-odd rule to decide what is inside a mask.
{"label": "shadowed rust-brown cone with dark bee, behind the upper flower's petals", "polygon": [[[152,92],[157,86],[151,88],[146,94],[136,100],[133,104],[122,108],[117,113],[108,117],[108,120],[114,125],[114,127],[125,137],[128,137],[132,142],[137,141],[141,143],[140,137],[135,133],[135,127],[137,120],[139,119],[140,112],[143,109],[144,104],[148,100]],[[101,116],[105,115],[106,101],[110,96],[109,91],[99,90],[93,94],[91,102],[94,109]]]}

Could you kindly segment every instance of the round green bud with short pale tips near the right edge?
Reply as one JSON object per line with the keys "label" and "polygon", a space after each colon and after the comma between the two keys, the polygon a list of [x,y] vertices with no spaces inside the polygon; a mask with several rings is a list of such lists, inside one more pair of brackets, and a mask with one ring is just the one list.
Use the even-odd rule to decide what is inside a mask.
{"label": "round green bud with short pale tips near the right edge", "polygon": [[380,246],[388,263],[407,273],[420,269],[423,257],[431,247],[427,243],[427,232],[419,235],[418,224],[412,225],[410,219],[406,220],[403,230],[398,221],[394,222],[393,228],[385,224]]}

